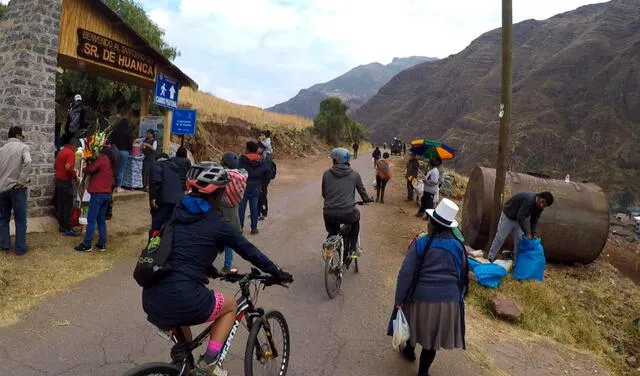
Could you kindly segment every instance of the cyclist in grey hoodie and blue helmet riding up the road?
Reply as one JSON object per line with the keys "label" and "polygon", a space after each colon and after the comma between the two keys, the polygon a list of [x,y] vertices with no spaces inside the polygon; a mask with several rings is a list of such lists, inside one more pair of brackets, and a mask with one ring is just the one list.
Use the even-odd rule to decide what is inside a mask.
{"label": "cyclist in grey hoodie and blue helmet riding up the road", "polygon": [[360,211],[356,209],[356,190],[362,201],[369,203],[373,200],[367,194],[360,174],[349,165],[351,159],[349,150],[345,148],[333,149],[329,158],[333,160],[333,167],[325,171],[322,176],[324,225],[329,236],[340,233],[341,224],[351,225],[348,253],[351,257],[356,258],[361,255],[361,251],[358,249]]}

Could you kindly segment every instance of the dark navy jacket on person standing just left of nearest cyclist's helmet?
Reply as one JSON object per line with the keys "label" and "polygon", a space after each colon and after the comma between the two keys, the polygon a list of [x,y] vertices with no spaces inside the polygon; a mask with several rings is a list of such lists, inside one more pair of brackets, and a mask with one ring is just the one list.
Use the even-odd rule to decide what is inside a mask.
{"label": "dark navy jacket on person standing just left of nearest cyclist's helmet", "polygon": [[151,165],[149,198],[158,204],[177,204],[184,196],[178,167],[171,160],[159,160]]}

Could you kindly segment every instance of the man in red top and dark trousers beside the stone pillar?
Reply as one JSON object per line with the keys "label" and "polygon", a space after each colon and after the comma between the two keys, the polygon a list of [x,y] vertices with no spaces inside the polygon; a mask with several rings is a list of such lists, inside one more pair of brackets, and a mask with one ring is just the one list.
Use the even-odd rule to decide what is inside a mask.
{"label": "man in red top and dark trousers beside the stone pillar", "polygon": [[78,234],[73,230],[71,224],[71,213],[73,212],[73,198],[76,195],[74,183],[78,180],[78,173],[74,166],[80,142],[77,138],[70,138],[70,136],[64,135],[64,148],[60,150],[53,163],[53,169],[56,173],[54,196],[58,231],[67,236],[77,236]]}

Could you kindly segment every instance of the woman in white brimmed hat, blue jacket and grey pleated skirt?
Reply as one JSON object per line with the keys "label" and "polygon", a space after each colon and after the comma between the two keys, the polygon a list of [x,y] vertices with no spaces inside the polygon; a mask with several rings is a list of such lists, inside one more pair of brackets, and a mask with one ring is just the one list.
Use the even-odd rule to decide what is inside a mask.
{"label": "woman in white brimmed hat, blue jacket and grey pleated skirt", "polygon": [[469,269],[464,245],[452,231],[458,210],[446,198],[427,210],[429,233],[413,239],[398,273],[395,308],[406,316],[410,332],[402,355],[413,362],[416,344],[422,346],[418,376],[429,374],[436,351],[465,348]]}

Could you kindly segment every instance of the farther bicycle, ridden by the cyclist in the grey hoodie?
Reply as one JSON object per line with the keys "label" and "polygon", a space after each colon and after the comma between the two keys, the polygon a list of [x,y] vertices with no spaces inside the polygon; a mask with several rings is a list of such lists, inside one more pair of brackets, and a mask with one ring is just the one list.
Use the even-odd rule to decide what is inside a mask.
{"label": "farther bicycle, ridden by the cyclist in the grey hoodie", "polygon": [[[365,202],[356,202],[357,205],[366,205]],[[345,249],[345,244],[349,244],[349,233],[351,225],[340,225],[340,233],[331,235],[322,244],[322,259],[324,260],[324,286],[327,295],[331,299],[340,292],[343,274],[351,268],[353,264],[354,273],[360,271],[358,259],[351,257],[351,252]],[[358,234],[358,249],[360,249],[360,234]]]}

